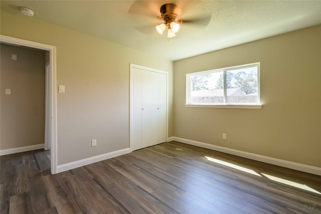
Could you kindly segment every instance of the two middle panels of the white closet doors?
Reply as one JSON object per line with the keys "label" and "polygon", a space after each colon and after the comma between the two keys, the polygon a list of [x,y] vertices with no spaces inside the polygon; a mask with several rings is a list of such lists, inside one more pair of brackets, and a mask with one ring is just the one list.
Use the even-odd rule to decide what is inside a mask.
{"label": "two middle panels of the white closet doors", "polygon": [[158,73],[142,70],[142,146],[158,143]]}

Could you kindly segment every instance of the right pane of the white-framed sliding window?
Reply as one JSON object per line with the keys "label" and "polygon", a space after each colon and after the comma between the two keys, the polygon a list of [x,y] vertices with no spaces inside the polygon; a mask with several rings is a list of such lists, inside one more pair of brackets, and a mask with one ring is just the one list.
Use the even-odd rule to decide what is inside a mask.
{"label": "right pane of the white-framed sliding window", "polygon": [[257,103],[257,66],[226,71],[227,103]]}

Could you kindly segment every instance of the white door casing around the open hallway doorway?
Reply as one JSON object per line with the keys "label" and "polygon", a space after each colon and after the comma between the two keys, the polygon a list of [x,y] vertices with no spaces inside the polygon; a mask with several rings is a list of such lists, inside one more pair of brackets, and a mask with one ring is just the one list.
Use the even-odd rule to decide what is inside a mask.
{"label": "white door casing around the open hallway doorway", "polygon": [[23,40],[15,37],[9,37],[5,35],[0,35],[0,42],[16,45],[16,46],[25,46],[40,50],[49,51],[50,56],[50,77],[51,77],[51,95],[52,95],[52,122],[51,122],[51,133],[52,142],[50,150],[50,166],[51,173],[57,173],[57,86],[56,86],[56,46],[32,42],[28,40]]}

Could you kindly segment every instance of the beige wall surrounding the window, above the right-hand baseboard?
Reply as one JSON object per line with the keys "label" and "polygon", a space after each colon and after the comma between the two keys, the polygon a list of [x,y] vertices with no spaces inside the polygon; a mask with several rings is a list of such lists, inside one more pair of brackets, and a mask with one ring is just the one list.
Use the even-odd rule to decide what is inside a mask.
{"label": "beige wall surrounding the window, above the right-hand baseboard", "polygon": [[[320,38],[316,26],[174,62],[174,136],[321,167]],[[184,106],[187,73],[255,62],[262,109]]]}

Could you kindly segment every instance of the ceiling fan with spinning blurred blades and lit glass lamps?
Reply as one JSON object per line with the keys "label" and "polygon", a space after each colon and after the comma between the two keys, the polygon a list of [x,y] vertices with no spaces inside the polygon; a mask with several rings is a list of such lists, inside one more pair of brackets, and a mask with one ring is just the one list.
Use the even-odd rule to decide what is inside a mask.
{"label": "ceiling fan with spinning blurred blades and lit glass lamps", "polygon": [[[185,24],[193,24],[199,27],[205,28],[209,22],[211,21],[211,16],[210,15],[201,15],[194,17],[192,15],[192,18],[190,19],[181,19],[182,16],[182,10],[181,8],[173,3],[167,3],[161,6],[159,8],[159,4],[161,2],[159,1],[136,1],[132,7],[129,9],[129,13],[132,14],[138,14],[138,15],[147,15],[148,17],[153,17],[157,18],[157,20],[162,20],[161,24],[155,24],[155,25],[148,25],[144,27],[138,27],[136,28],[138,31],[149,34],[150,30],[156,29],[156,31],[159,34],[163,34],[165,30],[167,29],[167,37],[168,38],[173,38],[176,36],[176,33],[181,29],[182,23]],[[190,9],[188,6],[183,2],[178,2],[183,5],[184,10],[186,10],[186,14],[184,15],[185,17],[188,17],[188,12],[192,11],[194,9],[194,6],[199,3],[195,3],[194,5],[189,5]],[[147,10],[146,10],[147,9]],[[148,10],[149,9],[149,10]],[[154,31],[154,30],[152,30]]]}

